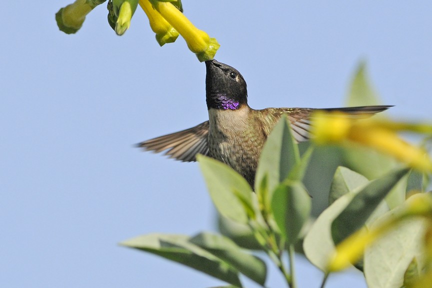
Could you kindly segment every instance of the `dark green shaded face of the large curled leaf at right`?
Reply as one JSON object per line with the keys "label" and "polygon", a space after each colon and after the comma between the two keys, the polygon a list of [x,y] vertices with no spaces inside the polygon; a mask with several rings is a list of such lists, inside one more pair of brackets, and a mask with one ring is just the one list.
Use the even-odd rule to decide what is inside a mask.
{"label": "dark green shaded face of the large curled leaf at right", "polygon": [[334,243],[339,243],[364,225],[373,210],[407,171],[407,168],[395,169],[361,188],[331,224]]}

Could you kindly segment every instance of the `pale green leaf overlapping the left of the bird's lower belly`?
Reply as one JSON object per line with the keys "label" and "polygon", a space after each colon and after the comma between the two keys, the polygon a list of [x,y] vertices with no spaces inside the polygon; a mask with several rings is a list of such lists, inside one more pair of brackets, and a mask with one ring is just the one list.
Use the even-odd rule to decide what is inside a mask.
{"label": "pale green leaf overlapping the left of the bird's lower belly", "polygon": [[253,218],[253,192],[247,181],[220,161],[203,155],[197,155],[196,159],[219,213],[240,223],[247,223],[249,218]]}

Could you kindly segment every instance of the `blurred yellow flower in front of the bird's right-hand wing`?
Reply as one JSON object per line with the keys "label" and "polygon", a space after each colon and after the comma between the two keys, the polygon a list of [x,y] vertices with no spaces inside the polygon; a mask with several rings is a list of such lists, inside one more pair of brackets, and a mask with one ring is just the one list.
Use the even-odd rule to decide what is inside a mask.
{"label": "blurred yellow flower in front of the bird's right-hand wing", "polygon": [[312,127],[314,140],[318,144],[352,141],[393,155],[413,168],[432,171],[432,161],[426,151],[405,142],[395,133],[397,130],[430,132],[430,125],[358,120],[340,112],[316,112]]}

